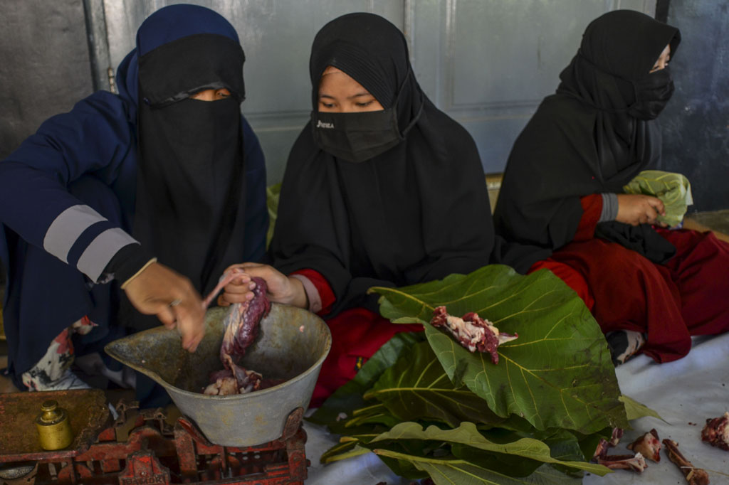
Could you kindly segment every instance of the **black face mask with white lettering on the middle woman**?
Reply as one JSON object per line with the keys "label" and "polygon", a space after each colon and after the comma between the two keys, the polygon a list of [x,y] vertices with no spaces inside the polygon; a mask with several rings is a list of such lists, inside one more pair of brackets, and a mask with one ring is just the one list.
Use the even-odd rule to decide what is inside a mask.
{"label": "black face mask with white lettering on the middle woman", "polygon": [[311,129],[322,150],[347,162],[365,162],[405,140],[393,107],[362,113],[311,111]]}

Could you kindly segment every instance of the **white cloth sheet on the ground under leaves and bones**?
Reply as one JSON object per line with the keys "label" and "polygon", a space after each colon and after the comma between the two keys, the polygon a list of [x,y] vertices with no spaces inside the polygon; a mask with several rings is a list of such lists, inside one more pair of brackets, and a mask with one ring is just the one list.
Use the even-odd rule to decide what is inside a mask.
{"label": "white cloth sheet on the ground under leaves and bones", "polygon": [[[701,441],[701,428],[707,418],[729,411],[729,334],[714,338],[696,338],[693,350],[685,358],[656,364],[644,355],[629,360],[616,371],[623,394],[644,403],[666,422],[644,417],[632,422],[633,430],[625,435],[609,454],[631,453],[625,446],[637,436],[655,428],[658,436],[679,443],[679,450],[698,468],[709,472],[712,485],[729,485],[729,452]],[[373,453],[320,465],[319,457],[338,443],[338,436],[323,427],[305,423],[308,442],[306,456],[311,460],[307,485],[407,485],[410,481],[395,476]],[[584,485],[686,484],[676,465],[660,452],[660,462],[647,460],[643,473],[617,470],[607,476],[585,476]],[[723,473],[723,475],[722,475]]]}

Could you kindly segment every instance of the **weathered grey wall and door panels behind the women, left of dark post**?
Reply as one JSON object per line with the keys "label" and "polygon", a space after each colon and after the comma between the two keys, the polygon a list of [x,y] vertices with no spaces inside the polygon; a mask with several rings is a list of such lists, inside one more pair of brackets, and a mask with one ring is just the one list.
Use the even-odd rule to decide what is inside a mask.
{"label": "weathered grey wall and door panels behind the women, left of dark post", "polygon": [[[69,109],[95,84],[108,85],[152,12],[175,0],[0,0],[9,25],[0,39],[0,152],[43,119]],[[513,140],[539,100],[553,92],[580,35],[615,8],[652,13],[655,0],[207,0],[246,51],[243,113],[259,135],[269,182],[281,180],[289,149],[308,119],[308,58],[316,31],[347,12],[374,12],[408,38],[413,68],[437,106],[474,136],[488,173],[503,169]],[[92,36],[90,66],[84,5]],[[103,23],[104,25],[99,25]],[[105,44],[106,45],[102,45]],[[37,52],[36,52],[37,51]],[[42,60],[45,59],[45,60]],[[55,77],[48,76],[51,72]],[[30,87],[30,89],[28,89]],[[41,95],[39,95],[41,93]],[[5,150],[5,151],[4,151]]]}

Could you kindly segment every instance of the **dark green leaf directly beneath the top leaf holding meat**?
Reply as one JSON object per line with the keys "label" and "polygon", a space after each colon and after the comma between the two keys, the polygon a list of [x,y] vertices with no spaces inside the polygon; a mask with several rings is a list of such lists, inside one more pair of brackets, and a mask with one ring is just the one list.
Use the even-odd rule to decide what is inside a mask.
{"label": "dark green leaf directly beneath the top leaf holding meat", "polygon": [[453,427],[462,421],[491,425],[504,425],[506,421],[467,387],[453,385],[428,342],[414,345],[399,358],[364,399],[380,401],[394,417],[404,421],[431,419]]}

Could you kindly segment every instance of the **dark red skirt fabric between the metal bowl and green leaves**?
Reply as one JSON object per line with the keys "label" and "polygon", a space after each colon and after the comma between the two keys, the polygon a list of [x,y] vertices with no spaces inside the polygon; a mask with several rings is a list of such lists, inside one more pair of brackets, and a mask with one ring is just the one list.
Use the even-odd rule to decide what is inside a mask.
{"label": "dark red skirt fabric between the metal bowl and green leaves", "polygon": [[403,331],[422,331],[417,324],[401,325],[364,308],[351,308],[327,320],[332,332],[332,350],[324,360],[311,397],[319,407],[335,390],[345,385],[367,359],[389,339]]}

